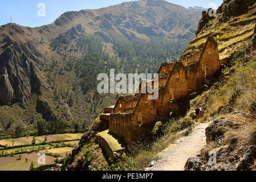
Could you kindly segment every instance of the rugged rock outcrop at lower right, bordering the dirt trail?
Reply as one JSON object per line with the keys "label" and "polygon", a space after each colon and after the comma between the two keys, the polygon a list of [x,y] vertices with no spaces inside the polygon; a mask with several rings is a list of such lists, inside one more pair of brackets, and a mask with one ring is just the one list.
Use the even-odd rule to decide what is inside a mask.
{"label": "rugged rock outcrop at lower right, bordering the dirt trail", "polygon": [[[235,113],[233,113],[235,115]],[[238,138],[225,139],[230,129],[239,129],[241,123],[231,118],[219,118],[206,128],[207,145],[201,153],[189,158],[185,164],[186,171],[230,171],[252,170],[255,168],[253,159],[256,156],[255,142],[242,141]],[[209,151],[216,152],[216,162],[210,163]],[[212,161],[210,159],[210,161]]]}

